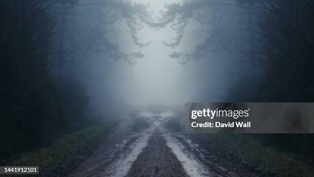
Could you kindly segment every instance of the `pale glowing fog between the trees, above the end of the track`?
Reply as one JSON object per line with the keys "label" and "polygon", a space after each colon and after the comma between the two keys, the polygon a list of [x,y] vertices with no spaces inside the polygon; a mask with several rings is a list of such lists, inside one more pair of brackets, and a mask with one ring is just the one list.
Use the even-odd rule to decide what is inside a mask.
{"label": "pale glowing fog between the trees, above the end of the track", "polygon": [[[160,11],[166,10],[165,3],[180,2],[132,1],[148,4],[153,19],[161,17]],[[173,41],[176,36],[170,25],[161,29],[144,25],[138,36],[142,42],[151,42],[145,47],[134,44],[125,22],[106,26],[106,37],[123,53],[141,51],[144,58],[136,59],[133,64],[116,61],[106,54],[88,54],[81,59],[76,76],[93,96],[92,107],[110,105],[115,100],[141,105],[223,101],[230,84],[241,74],[234,54],[208,54],[202,60],[185,64],[169,57],[173,51],[192,52],[207,38],[207,28],[200,22],[191,21],[180,44],[171,48],[163,43]]]}

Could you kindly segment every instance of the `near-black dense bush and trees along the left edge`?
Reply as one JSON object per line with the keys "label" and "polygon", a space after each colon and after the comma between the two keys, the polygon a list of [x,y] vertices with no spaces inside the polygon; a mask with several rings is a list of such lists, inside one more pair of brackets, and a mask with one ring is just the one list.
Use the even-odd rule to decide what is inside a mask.
{"label": "near-black dense bush and trees along the left edge", "polygon": [[0,157],[75,128],[88,102],[82,86],[55,77],[66,61],[58,44],[63,7],[56,1],[1,1]]}

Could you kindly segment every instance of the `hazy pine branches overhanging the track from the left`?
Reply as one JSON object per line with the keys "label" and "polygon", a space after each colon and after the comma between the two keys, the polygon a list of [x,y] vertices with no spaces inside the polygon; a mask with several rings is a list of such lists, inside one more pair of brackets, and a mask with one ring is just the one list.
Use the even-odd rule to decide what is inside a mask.
{"label": "hazy pine branches overhanging the track from the left", "polygon": [[148,5],[129,1],[96,0],[77,3],[76,8],[87,11],[84,18],[78,16],[77,19],[89,24],[88,26],[84,25],[86,28],[83,34],[85,36],[84,43],[86,44],[84,47],[95,52],[105,52],[109,57],[126,61],[129,64],[134,63],[135,59],[144,57],[141,51],[132,52],[131,54],[121,52],[119,46],[107,39],[106,27],[117,21],[122,21],[128,26],[135,45],[140,48],[148,46],[151,42],[142,42],[138,36],[138,31],[143,29],[144,24],[151,19],[151,13],[147,11]]}

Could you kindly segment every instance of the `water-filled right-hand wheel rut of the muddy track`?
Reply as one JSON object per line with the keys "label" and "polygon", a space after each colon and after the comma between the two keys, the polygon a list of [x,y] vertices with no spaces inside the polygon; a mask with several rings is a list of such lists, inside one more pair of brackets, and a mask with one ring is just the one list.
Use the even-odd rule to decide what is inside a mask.
{"label": "water-filled right-hand wheel rut of the muddy track", "polygon": [[206,166],[197,160],[193,153],[184,151],[184,146],[178,139],[174,138],[169,133],[164,133],[163,136],[166,139],[167,146],[171,148],[189,176],[213,176],[213,174],[207,170]]}

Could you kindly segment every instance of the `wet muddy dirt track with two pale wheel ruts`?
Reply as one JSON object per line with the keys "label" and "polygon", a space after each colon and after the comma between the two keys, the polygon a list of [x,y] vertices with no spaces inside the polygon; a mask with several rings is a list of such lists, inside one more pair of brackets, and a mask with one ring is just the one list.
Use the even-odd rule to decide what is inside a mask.
{"label": "wet muddy dirt track with two pale wheel ruts", "polygon": [[212,161],[198,135],[169,132],[164,123],[171,116],[171,112],[140,114],[151,122],[141,132],[132,132],[131,119],[126,119],[69,176],[258,176],[237,175],[232,166],[237,162],[225,168]]}

